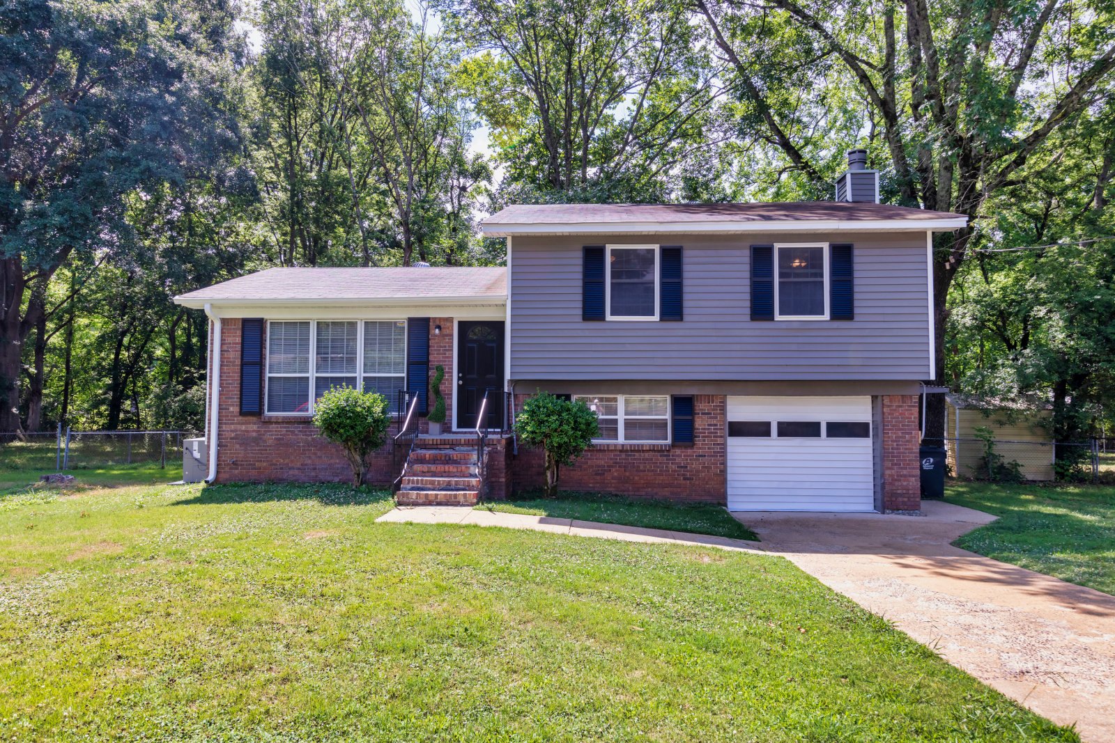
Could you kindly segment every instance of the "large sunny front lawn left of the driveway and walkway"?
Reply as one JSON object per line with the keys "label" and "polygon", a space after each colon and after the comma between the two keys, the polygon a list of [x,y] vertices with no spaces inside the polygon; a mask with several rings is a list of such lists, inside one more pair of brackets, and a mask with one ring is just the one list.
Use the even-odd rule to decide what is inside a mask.
{"label": "large sunny front lawn left of the driveway and walkway", "polygon": [[3,504],[4,741],[1078,740],[777,557],[336,485]]}

